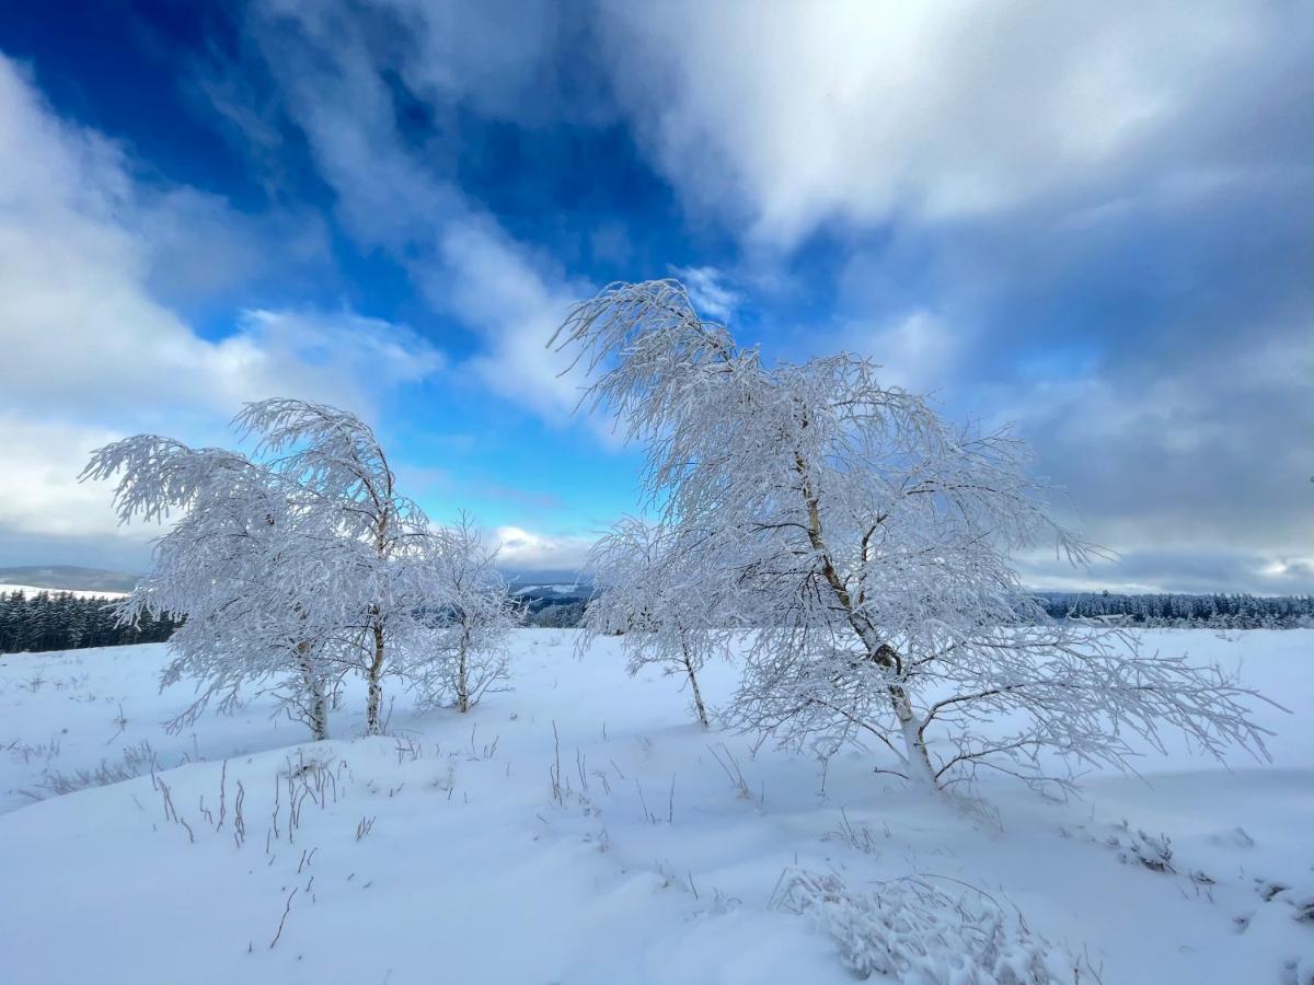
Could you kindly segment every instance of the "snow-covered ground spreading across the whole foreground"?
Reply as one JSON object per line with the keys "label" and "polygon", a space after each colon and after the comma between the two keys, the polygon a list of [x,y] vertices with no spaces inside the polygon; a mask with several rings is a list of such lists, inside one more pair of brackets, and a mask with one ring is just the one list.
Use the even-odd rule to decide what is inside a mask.
{"label": "snow-covered ground spreading across the whole foreground", "polygon": [[[319,745],[259,701],[166,734],[188,693],[158,693],[162,645],[0,657],[0,982],[853,981],[779,905],[798,867],[986,893],[1080,982],[1303,985],[1314,632],[1147,636],[1244,658],[1293,711],[1256,712],[1271,764],[1180,749],[1066,805],[1001,779],[954,809],[871,754],[823,777],[703,732],[675,679],[627,679],[615,640],[577,661],[569,630],[515,634],[514,691],[470,714],[398,696],[392,735],[352,739],[350,692]],[[704,691],[733,683],[714,667]]]}

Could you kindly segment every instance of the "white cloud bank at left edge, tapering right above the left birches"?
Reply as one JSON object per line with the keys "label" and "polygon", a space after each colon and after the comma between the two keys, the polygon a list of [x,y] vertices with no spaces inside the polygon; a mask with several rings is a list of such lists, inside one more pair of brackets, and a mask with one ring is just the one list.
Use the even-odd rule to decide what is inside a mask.
{"label": "white cloud bank at left edge, tapering right above the left birches", "polygon": [[[223,225],[213,197],[180,189],[167,201]],[[197,335],[150,286],[154,260],[180,235],[160,226],[168,206],[137,188],[121,148],[55,117],[3,56],[0,206],[0,399],[9,408],[101,420],[142,405],[230,415],[271,394],[359,407],[440,365],[413,332],[347,314],[258,311],[227,338]]]}

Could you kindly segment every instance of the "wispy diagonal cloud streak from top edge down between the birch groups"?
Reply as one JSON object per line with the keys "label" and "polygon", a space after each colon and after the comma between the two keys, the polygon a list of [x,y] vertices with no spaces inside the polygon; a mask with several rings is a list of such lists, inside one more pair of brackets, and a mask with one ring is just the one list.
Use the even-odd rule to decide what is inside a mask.
{"label": "wispy diagonal cloud streak from top edge down between the birch groups", "polygon": [[[459,100],[493,114],[532,113],[524,97],[551,74],[545,59],[553,49],[531,28],[560,25],[548,8],[528,16],[511,8],[515,25],[507,33],[487,12],[472,21],[406,0],[369,11],[269,0],[254,30],[352,234],[392,252],[434,310],[481,336],[468,361],[477,380],[561,422],[576,406],[578,381],[561,376],[568,362],[547,341],[589,289],[470,201],[449,180],[442,147],[417,150],[403,138],[385,79],[405,79],[439,121],[456,112]],[[360,18],[381,13],[399,18],[414,45],[372,45],[380,21],[365,30]],[[361,29],[344,32],[343,24]],[[455,47],[453,37],[461,38]]]}

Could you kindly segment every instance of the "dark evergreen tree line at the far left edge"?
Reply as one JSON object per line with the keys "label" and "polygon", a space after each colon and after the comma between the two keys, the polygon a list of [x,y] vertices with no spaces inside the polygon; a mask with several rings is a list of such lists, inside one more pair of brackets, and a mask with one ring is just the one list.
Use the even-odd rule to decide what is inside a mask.
{"label": "dark evergreen tree line at the far left edge", "polygon": [[79,650],[87,646],[158,644],[177,624],[148,613],[138,625],[118,625],[114,602],[72,592],[14,590],[0,595],[0,653]]}

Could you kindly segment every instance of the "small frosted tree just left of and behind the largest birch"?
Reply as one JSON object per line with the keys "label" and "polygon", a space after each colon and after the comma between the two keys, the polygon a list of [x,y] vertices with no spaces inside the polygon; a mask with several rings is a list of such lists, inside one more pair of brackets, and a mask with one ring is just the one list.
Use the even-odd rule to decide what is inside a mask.
{"label": "small frosted tree just left of and behind the largest birch", "polygon": [[698,674],[725,653],[728,633],[723,586],[710,584],[686,559],[696,540],[681,544],[668,527],[625,517],[589,556],[597,591],[585,612],[581,650],[599,634],[620,633],[633,676],[646,666],[679,674],[689,686],[694,714],[706,728],[707,705]]}

